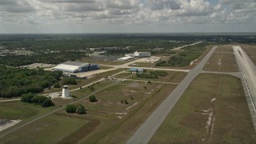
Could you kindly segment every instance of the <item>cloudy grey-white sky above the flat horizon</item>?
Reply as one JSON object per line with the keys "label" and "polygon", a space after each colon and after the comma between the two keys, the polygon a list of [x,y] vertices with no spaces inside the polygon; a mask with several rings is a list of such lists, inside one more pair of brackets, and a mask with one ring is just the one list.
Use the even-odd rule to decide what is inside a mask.
{"label": "cloudy grey-white sky above the flat horizon", "polygon": [[0,0],[0,34],[256,32],[256,0]]}

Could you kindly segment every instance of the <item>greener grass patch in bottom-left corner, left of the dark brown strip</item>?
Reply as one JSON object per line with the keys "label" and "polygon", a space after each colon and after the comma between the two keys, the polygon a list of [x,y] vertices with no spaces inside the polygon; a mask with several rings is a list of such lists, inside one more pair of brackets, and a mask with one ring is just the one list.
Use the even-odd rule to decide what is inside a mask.
{"label": "greener grass patch in bottom-left corner, left of the dark brown strip", "polygon": [[51,114],[1,139],[3,143],[57,143],[86,126],[85,119]]}

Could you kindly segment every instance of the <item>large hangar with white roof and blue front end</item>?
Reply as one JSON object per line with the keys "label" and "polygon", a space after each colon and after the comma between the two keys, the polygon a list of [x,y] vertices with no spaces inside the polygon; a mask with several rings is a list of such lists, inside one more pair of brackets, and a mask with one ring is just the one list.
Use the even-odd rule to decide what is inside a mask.
{"label": "large hangar with white roof and blue front end", "polygon": [[58,66],[55,66],[52,68],[52,70],[61,70],[69,73],[78,73],[78,72],[85,72],[85,71],[91,71],[91,70],[98,70],[99,66],[98,64],[90,64],[90,63],[84,63],[84,62],[63,62],[61,64],[58,64]]}

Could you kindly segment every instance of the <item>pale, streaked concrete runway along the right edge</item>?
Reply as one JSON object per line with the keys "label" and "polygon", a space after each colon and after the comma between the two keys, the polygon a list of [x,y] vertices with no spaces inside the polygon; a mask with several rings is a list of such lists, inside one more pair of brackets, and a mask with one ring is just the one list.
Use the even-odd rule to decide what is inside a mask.
{"label": "pale, streaked concrete runway along the right edge", "polygon": [[250,115],[254,123],[254,130],[256,130],[256,67],[240,46],[233,46],[233,49],[238,66],[242,72],[242,85],[246,94]]}

